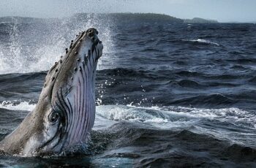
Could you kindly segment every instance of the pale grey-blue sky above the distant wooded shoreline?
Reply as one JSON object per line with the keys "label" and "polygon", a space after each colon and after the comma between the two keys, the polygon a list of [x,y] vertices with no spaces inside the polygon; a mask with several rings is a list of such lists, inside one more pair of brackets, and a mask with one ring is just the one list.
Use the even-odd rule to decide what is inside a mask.
{"label": "pale grey-blue sky above the distant wooded shoreline", "polygon": [[0,0],[0,17],[68,17],[77,12],[155,12],[176,18],[255,22],[256,0]]}

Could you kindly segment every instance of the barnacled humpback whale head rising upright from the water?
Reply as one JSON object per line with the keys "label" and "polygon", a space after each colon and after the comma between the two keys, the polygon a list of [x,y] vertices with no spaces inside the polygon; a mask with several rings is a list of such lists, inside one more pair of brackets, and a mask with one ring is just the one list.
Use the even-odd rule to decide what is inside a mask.
{"label": "barnacled humpback whale head rising upright from the water", "polygon": [[95,120],[95,73],[103,45],[98,31],[77,35],[45,77],[34,110],[0,142],[0,150],[39,156],[73,150],[87,142]]}

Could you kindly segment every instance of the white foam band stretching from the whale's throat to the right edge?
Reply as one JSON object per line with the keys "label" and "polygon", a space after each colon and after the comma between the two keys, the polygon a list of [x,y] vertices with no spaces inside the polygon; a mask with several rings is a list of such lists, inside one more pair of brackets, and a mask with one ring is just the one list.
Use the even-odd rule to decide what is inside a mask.
{"label": "white foam band stretching from the whale's throat to the right edge", "polygon": [[[255,129],[256,114],[238,108],[204,109],[189,107],[135,107],[132,105],[101,105],[97,114],[112,121],[138,121],[151,123],[161,129],[192,126],[201,119],[221,122],[250,123]],[[161,124],[160,124],[161,123]],[[163,126],[162,123],[165,123]],[[156,125],[157,124],[157,125]]]}

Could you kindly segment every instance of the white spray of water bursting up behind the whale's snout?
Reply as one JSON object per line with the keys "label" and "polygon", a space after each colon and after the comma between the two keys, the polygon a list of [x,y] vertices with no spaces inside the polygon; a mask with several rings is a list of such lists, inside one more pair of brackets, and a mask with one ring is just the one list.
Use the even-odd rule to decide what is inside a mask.
{"label": "white spray of water bursting up behind the whale's snout", "polygon": [[[99,15],[81,14],[70,18],[37,19],[12,18],[7,26],[8,40],[0,44],[0,74],[47,71],[64,54],[70,40],[87,28],[99,30],[104,49],[99,60],[99,69],[113,66],[113,40],[111,20],[102,20]],[[104,65],[102,64],[104,62]]]}

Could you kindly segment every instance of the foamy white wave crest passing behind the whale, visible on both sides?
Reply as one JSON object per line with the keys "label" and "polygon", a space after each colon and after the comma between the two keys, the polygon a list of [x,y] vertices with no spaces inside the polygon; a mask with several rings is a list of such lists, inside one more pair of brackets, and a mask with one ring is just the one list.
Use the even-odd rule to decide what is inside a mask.
{"label": "foamy white wave crest passing behind the whale, visible on both sides", "polygon": [[[36,104],[31,102],[8,102],[0,103],[0,108],[7,110],[31,111]],[[256,129],[256,114],[251,111],[238,108],[206,109],[195,107],[138,107],[127,105],[99,105],[96,108],[97,115],[112,121],[138,121],[152,123],[167,123],[175,121],[189,121],[198,118],[207,118],[219,121],[244,121],[252,123]]]}

